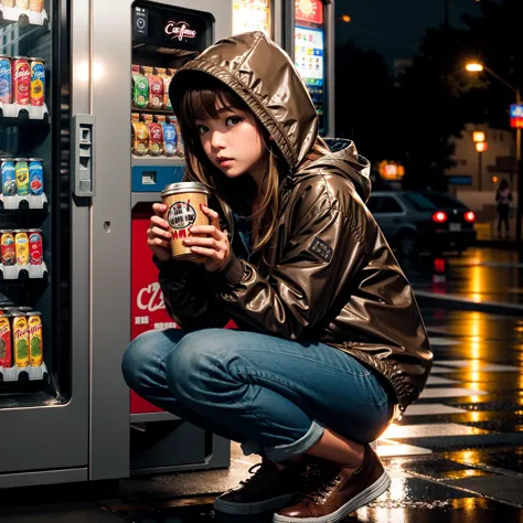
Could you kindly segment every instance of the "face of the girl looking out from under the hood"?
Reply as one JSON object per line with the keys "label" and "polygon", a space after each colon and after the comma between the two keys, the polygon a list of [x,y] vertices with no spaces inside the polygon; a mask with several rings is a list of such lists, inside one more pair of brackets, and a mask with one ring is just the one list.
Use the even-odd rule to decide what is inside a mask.
{"label": "face of the girl looking out from under the hood", "polygon": [[260,181],[268,151],[254,116],[235,107],[216,105],[217,118],[195,120],[209,160],[227,178],[249,173]]}

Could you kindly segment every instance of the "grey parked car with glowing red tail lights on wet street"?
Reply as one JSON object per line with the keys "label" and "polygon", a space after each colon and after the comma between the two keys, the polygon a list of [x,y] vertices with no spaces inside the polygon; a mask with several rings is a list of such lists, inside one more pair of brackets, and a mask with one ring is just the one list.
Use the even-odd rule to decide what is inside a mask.
{"label": "grey parked car with glowing red tail lights on wet street", "polygon": [[476,241],[476,215],[465,203],[436,191],[377,191],[367,207],[387,242],[403,256],[421,250],[462,253]]}

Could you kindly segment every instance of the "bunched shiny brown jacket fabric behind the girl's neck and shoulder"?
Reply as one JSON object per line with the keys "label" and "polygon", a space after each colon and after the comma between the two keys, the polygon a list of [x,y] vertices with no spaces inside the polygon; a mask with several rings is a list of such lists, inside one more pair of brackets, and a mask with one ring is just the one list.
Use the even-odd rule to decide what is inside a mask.
{"label": "bunched shiny brown jacket fabric behind the girl's neck and shoulder", "polygon": [[360,198],[366,203],[371,195],[371,163],[357,153],[356,146],[351,140],[341,138],[327,138],[325,143],[331,150],[330,154],[321,157],[307,166],[306,171],[338,174],[352,181]]}

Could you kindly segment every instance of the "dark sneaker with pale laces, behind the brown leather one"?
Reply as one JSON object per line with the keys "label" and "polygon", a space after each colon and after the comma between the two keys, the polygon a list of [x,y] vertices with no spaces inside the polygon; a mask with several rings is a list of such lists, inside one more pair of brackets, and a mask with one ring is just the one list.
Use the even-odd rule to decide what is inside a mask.
{"label": "dark sneaker with pale laces, behind the brown leather one", "polygon": [[[255,469],[256,472],[254,472]],[[250,478],[228,490],[214,501],[214,509],[226,514],[260,514],[286,506],[298,492],[300,478],[306,470],[303,462],[288,463],[279,470],[275,463],[263,458],[262,463],[250,467]]]}

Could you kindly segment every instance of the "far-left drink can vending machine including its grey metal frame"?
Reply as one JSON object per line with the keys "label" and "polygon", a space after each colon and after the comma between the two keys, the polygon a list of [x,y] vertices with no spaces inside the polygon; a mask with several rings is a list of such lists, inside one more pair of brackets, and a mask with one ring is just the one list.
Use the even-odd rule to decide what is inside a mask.
{"label": "far-left drink can vending machine including its grey metal frame", "polygon": [[0,488],[82,481],[89,224],[72,205],[68,7],[2,0],[0,15]]}

